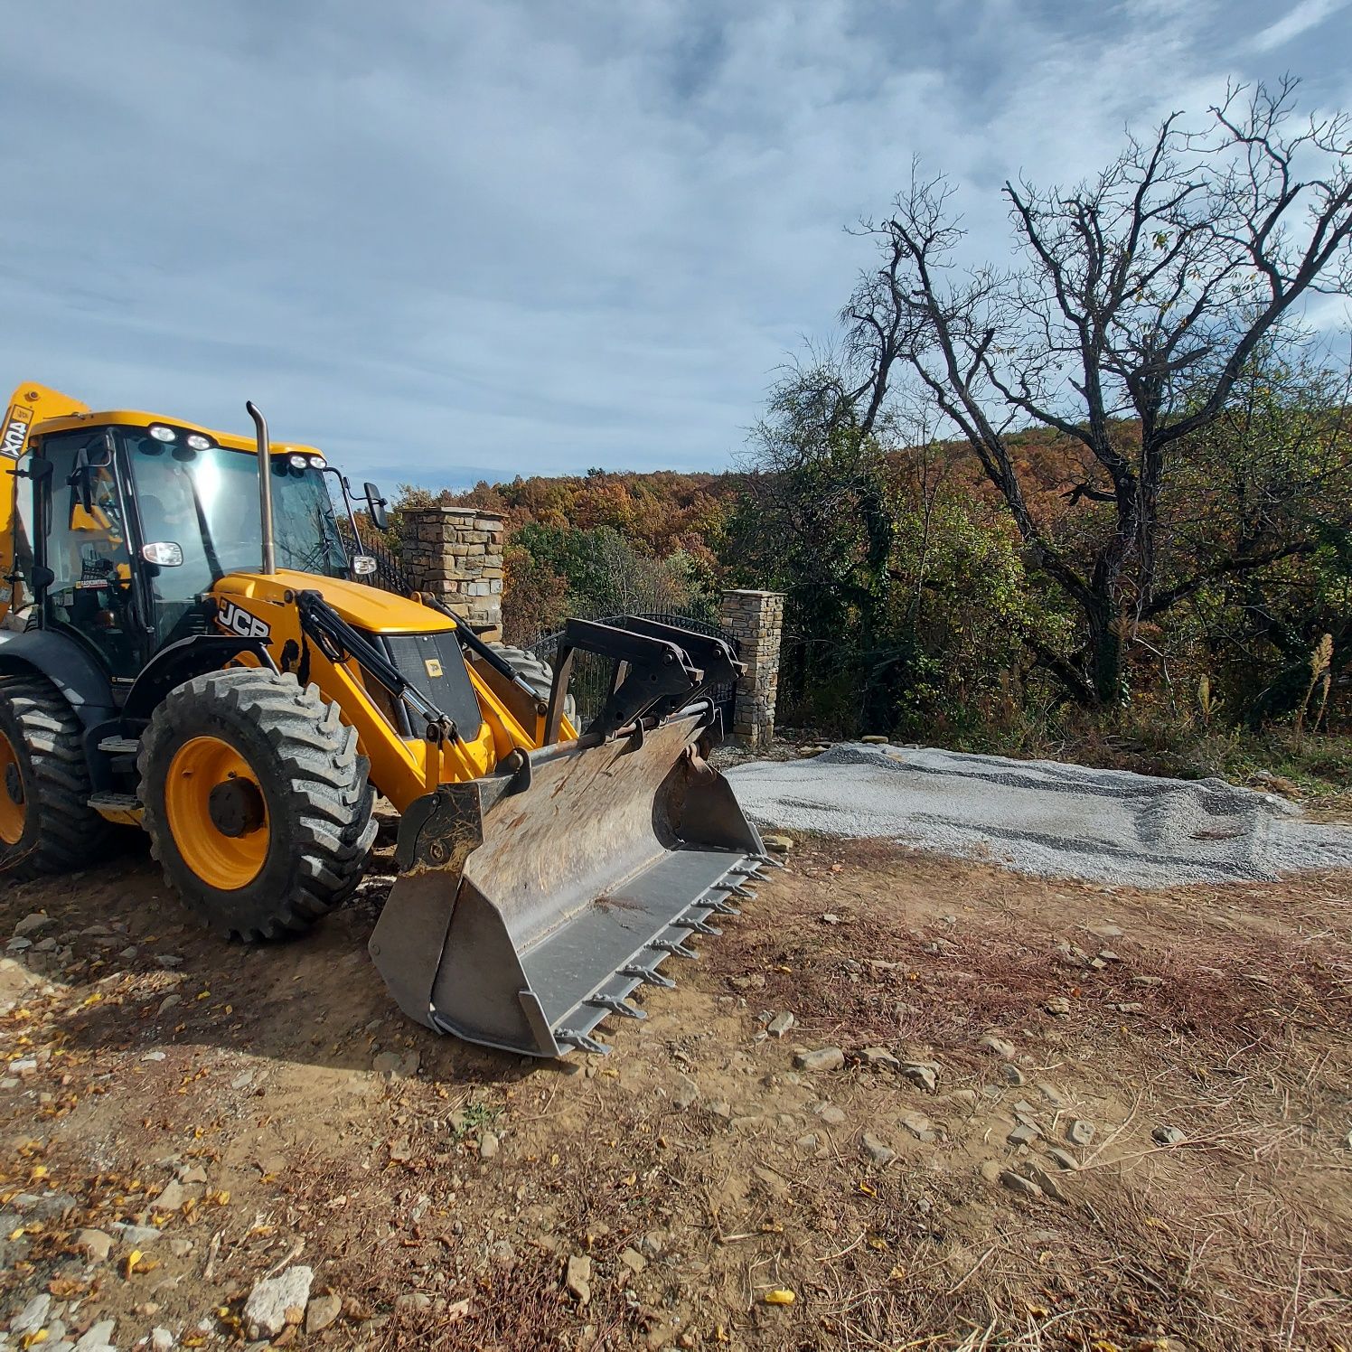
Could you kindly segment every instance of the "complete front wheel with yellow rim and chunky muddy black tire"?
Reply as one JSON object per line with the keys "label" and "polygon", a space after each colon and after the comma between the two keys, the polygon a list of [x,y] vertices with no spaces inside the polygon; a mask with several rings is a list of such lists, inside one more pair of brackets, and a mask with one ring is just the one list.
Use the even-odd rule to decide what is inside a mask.
{"label": "complete front wheel with yellow rim and chunky muddy black tire", "polygon": [[141,738],[150,850],[211,929],[250,941],[300,933],[365,871],[368,768],[315,685],[249,667],[197,676]]}

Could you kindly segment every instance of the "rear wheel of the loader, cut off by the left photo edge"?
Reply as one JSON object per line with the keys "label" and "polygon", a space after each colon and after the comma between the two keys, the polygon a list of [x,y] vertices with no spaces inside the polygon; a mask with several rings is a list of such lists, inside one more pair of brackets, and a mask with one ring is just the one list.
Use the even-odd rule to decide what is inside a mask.
{"label": "rear wheel of the loader, cut off by the left photo edge", "polygon": [[0,872],[85,868],[108,844],[89,807],[80,719],[43,676],[0,676]]}

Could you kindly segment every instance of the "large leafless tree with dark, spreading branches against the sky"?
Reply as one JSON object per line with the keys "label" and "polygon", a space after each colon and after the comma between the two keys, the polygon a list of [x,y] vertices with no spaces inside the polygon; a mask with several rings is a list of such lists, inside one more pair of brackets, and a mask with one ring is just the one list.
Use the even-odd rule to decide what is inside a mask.
{"label": "large leafless tree with dark, spreading branches against the sky", "polygon": [[[1233,88],[1206,127],[1175,114],[1069,189],[1006,183],[1025,254],[1010,272],[956,266],[953,189],[914,169],[888,218],[863,227],[882,265],[842,315],[859,423],[871,430],[894,387],[918,385],[959,429],[1028,564],[1083,615],[1083,650],[1037,654],[1083,703],[1121,698],[1141,621],[1306,548],[1240,549],[1168,577],[1159,557],[1187,439],[1309,296],[1352,287],[1352,126],[1343,114],[1297,124],[1294,95],[1291,80]],[[1128,443],[1124,420],[1137,429]],[[1034,510],[1010,445],[1030,425],[1082,448],[1067,500],[1094,523],[1083,545]]]}

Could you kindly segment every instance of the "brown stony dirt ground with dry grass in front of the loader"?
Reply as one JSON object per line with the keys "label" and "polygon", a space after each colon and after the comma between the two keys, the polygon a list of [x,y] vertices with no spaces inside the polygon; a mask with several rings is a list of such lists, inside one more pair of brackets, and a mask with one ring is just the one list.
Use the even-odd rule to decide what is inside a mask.
{"label": "brown stony dirt ground with dry grass in front of the loader", "polygon": [[258,949],[135,853],[5,887],[0,1345],[245,1344],[297,1264],[274,1345],[1352,1345],[1347,876],[788,859],[566,1065],[397,1014],[380,876]]}

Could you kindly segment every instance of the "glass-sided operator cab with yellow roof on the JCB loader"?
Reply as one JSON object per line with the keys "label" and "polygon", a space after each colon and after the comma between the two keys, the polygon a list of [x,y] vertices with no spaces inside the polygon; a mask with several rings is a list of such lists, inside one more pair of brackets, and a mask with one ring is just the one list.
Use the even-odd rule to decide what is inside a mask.
{"label": "glass-sided operator cab with yellow roof on the JCB loader", "polygon": [[[222,577],[258,571],[253,442],[110,412],[39,425],[31,450],[19,507],[37,625],[74,637],[119,684],[165,645],[212,630]],[[274,446],[270,462],[277,564],[349,577],[323,457]]]}

